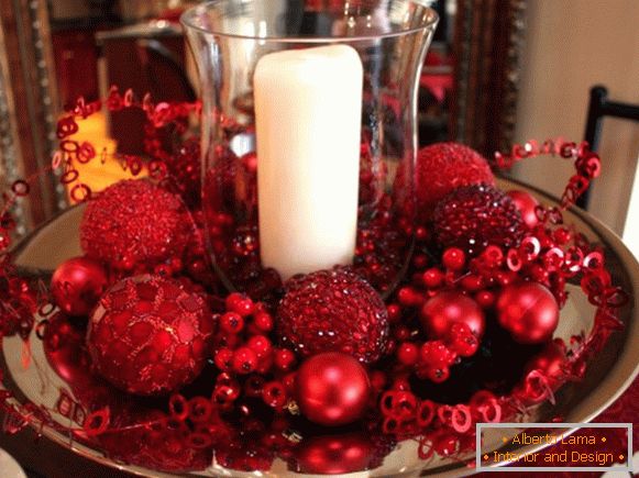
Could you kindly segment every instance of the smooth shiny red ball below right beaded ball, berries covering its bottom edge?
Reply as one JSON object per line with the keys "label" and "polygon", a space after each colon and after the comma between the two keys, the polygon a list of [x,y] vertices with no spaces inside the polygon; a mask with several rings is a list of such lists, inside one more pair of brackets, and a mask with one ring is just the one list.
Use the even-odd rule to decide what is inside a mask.
{"label": "smooth shiny red ball below right beaded ball, berries covering its bottom edge", "polygon": [[420,311],[421,326],[430,338],[444,338],[456,323],[466,324],[471,332],[484,334],[485,318],[477,302],[455,290],[439,292]]}

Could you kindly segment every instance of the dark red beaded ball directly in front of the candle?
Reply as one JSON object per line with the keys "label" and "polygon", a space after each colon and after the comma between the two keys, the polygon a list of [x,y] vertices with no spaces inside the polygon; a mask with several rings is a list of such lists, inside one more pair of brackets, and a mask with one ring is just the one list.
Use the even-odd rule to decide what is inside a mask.
{"label": "dark red beaded ball directly in front of the candle", "polygon": [[382,298],[345,269],[291,278],[277,316],[283,345],[302,356],[343,352],[370,364],[386,349],[388,313]]}

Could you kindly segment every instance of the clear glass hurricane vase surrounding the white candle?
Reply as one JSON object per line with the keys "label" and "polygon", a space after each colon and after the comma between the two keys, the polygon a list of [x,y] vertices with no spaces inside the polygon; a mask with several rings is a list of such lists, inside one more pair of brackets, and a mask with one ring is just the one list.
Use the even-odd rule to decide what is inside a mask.
{"label": "clear glass hurricane vase surrounding the white candle", "polygon": [[437,14],[409,0],[218,0],[183,15],[202,98],[202,209],[230,289],[351,267],[381,292],[412,246],[416,102]]}

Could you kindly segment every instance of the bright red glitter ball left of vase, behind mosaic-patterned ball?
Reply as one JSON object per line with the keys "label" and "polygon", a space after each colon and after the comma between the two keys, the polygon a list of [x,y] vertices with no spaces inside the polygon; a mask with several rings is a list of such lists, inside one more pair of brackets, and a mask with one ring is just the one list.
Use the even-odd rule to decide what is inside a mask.
{"label": "bright red glitter ball left of vase, behind mosaic-patterned ball", "polygon": [[181,255],[190,224],[175,194],[147,180],[123,180],[87,204],[80,245],[115,268],[153,266]]}

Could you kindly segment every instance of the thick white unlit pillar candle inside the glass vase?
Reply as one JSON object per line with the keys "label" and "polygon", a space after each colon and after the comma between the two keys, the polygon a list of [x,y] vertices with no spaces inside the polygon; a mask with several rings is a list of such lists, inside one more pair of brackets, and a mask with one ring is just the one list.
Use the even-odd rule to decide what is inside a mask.
{"label": "thick white unlit pillar candle inside the glass vase", "polygon": [[260,245],[283,279],[351,264],[363,67],[346,45],[263,56],[254,75]]}

